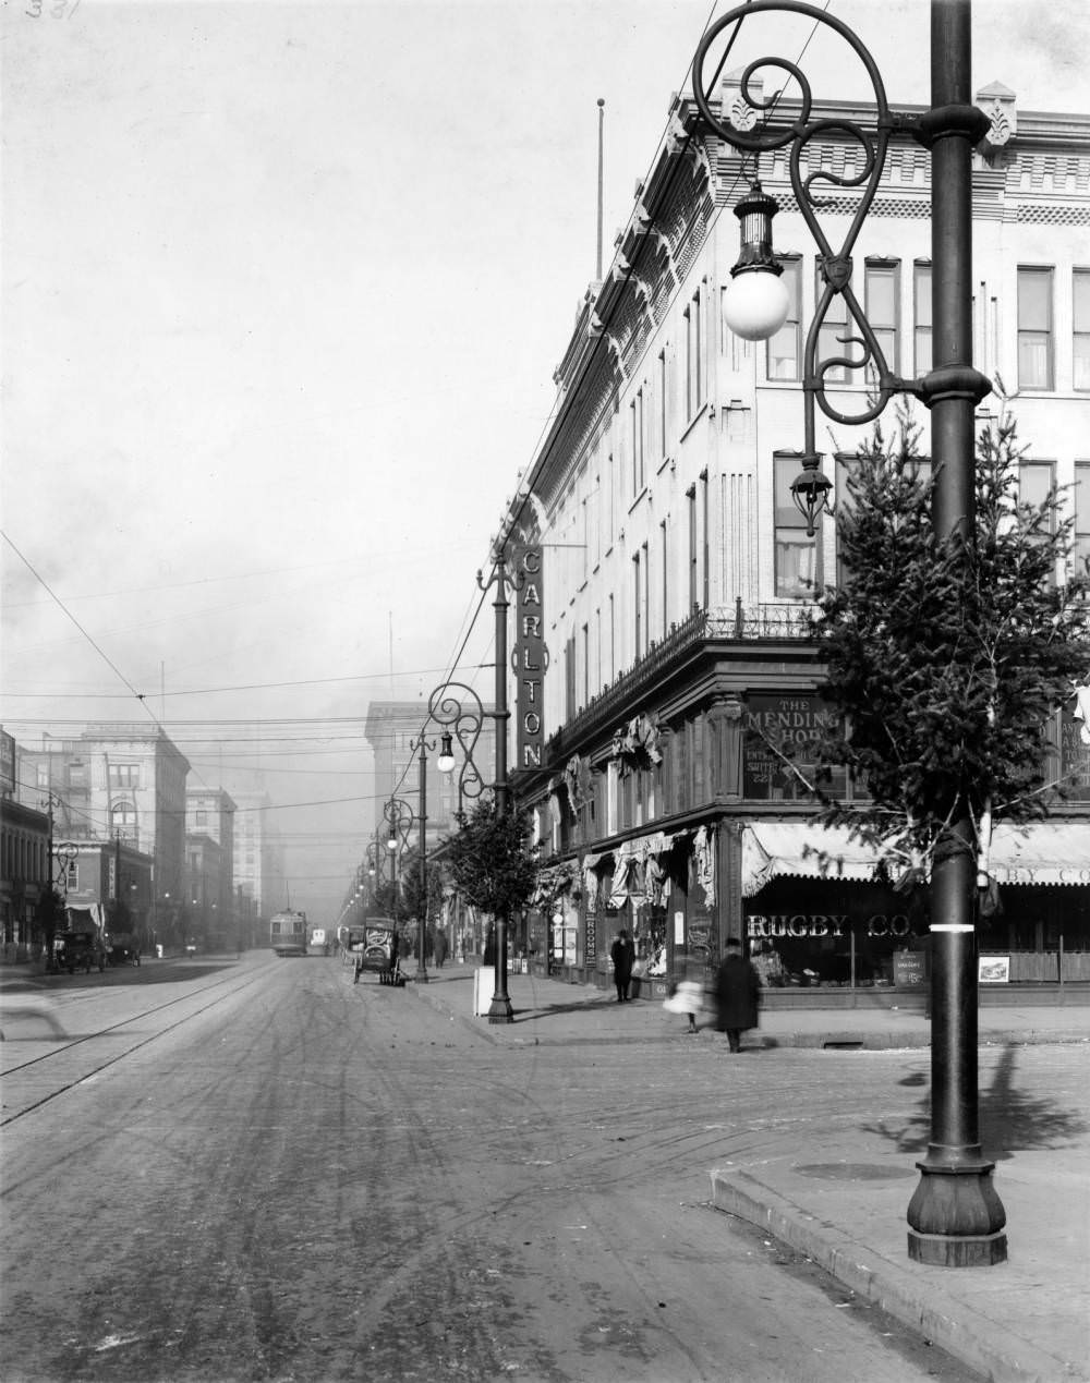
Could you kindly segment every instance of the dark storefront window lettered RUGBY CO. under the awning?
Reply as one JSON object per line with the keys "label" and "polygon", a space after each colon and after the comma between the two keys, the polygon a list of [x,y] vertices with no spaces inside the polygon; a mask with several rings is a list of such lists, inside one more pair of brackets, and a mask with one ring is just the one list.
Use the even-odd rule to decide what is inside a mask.
{"label": "dark storefront window lettered RUGBY CO. under the awning", "polygon": [[898,957],[927,943],[923,900],[876,884],[776,880],[746,899],[744,925],[769,989],[892,987],[909,972]]}

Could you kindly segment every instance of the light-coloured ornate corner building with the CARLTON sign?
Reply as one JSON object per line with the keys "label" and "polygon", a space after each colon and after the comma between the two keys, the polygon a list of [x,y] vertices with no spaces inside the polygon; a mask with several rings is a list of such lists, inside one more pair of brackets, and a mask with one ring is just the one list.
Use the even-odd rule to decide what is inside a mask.
{"label": "light-coloured ornate corner building with the CARLTON sign", "polygon": [[[718,95],[735,123],[747,119],[737,77]],[[1090,118],[1019,111],[999,83],[977,102],[992,130],[972,171],[975,364],[1017,391],[1024,495],[1069,487],[1082,560]],[[866,105],[816,104],[813,115],[874,124]],[[811,171],[859,171],[859,151],[837,131],[809,151]],[[837,535],[824,516],[808,538],[790,494],[816,246],[786,155],[765,155],[759,174],[780,205],[776,253],[791,308],[773,340],[747,343],[721,304],[737,257],[732,209],[751,167],[703,126],[692,100],[675,101],[609,271],[578,306],[551,430],[510,506],[512,564],[528,555],[539,566],[548,646],[531,708],[519,700],[531,679],[517,669],[531,651],[516,609],[513,781],[548,856],[527,918],[531,967],[604,987],[610,942],[627,927],[640,990],[654,997],[671,979],[708,978],[737,936],[775,1003],[899,1003],[924,985],[925,903],[812,824],[812,799],[769,743],[805,750],[833,714],[805,615],[815,588],[835,579]],[[856,296],[903,378],[931,368],[930,177],[924,149],[891,145],[853,256]],[[840,245],[858,192],[829,187],[824,199]],[[824,328],[819,361],[849,350],[835,342],[842,331]],[[834,407],[862,409],[862,371],[840,369],[829,383]],[[993,394],[979,426],[997,409]],[[913,416],[927,463],[930,418],[921,405]],[[891,405],[887,436],[894,422]],[[822,414],[818,423],[835,496],[869,429]],[[544,744],[534,747],[523,721],[537,723],[541,707]],[[988,974],[1004,975],[1007,992],[1090,979],[1090,745],[1073,712],[1073,700],[1057,708],[1047,744],[1071,798],[1046,823],[997,833],[1004,909],[982,920],[979,946],[1006,957]],[[851,799],[855,787],[845,780],[835,791]],[[982,985],[985,1001],[996,992]]]}

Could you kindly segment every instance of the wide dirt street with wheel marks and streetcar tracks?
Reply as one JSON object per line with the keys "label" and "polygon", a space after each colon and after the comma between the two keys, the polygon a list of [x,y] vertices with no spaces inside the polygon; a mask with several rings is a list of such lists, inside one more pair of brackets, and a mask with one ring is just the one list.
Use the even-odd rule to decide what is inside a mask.
{"label": "wide dirt street with wheel marks and streetcar tracks", "polygon": [[708,1203],[925,1052],[510,1050],[335,958],[57,993],[3,1044],[6,1383],[971,1377]]}

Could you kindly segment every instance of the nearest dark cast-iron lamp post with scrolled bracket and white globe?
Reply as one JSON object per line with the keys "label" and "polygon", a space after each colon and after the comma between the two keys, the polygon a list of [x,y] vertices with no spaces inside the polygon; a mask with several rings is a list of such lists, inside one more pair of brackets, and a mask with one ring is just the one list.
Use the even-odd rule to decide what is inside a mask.
{"label": "nearest dark cast-iron lamp post with scrolled bracket and white globe", "polygon": [[[768,112],[762,127],[747,133],[714,112],[704,90],[704,64],[717,37],[730,25],[765,11],[805,15],[838,33],[862,61],[874,91],[874,130],[844,118],[813,119],[811,86],[791,61],[765,57],[746,66],[741,95],[758,115]],[[733,40],[732,40],[733,41]],[[986,116],[971,104],[971,6],[970,0],[931,0],[931,101],[918,116],[889,111],[878,69],[858,36],[840,19],[801,0],[751,0],[714,24],[701,39],[693,59],[696,104],[703,118],[728,144],[743,152],[786,148],[791,187],[819,249],[822,289],[804,355],[805,445],[802,470],[791,485],[794,501],[812,537],[827,506],[830,481],[822,473],[815,445],[815,405],[834,422],[862,425],[877,418],[894,394],[923,400],[932,418],[932,455],[941,462],[935,488],[934,524],[939,539],[974,531],[974,409],[990,386],[972,368],[972,148],[988,131]],[[779,69],[794,79],[801,93],[797,115],[776,120],[776,97],[764,100],[751,91],[754,75]],[[847,136],[863,155],[855,176],[816,169],[805,177],[802,159],[812,140],[827,133]],[[923,379],[898,379],[881,344],[852,292],[851,253],[863,219],[881,181],[889,140],[905,134],[931,151],[931,254],[932,254],[932,360]],[[859,205],[840,249],[818,221],[822,209],[813,184],[860,188]],[[736,207],[741,221],[743,253],[728,289],[728,325],[751,340],[772,336],[784,321],[786,295],[777,281],[772,250],[772,216],[776,203],[758,183]],[[770,293],[765,285],[775,285]],[[845,353],[819,360],[820,331],[835,297],[842,299]],[[732,301],[733,299],[733,301]],[[862,354],[852,358],[847,347]],[[826,396],[830,371],[867,369],[873,389],[866,408],[844,414]],[[835,376],[833,376],[835,379]],[[831,380],[830,380],[831,383]],[[992,1185],[993,1163],[981,1152],[978,1131],[977,1069],[977,971],[974,932],[975,857],[971,822],[952,828],[953,848],[936,857],[931,875],[931,1142],[921,1178],[907,1212],[909,1257],[949,1267],[1001,1263],[1007,1241],[1003,1206]]]}

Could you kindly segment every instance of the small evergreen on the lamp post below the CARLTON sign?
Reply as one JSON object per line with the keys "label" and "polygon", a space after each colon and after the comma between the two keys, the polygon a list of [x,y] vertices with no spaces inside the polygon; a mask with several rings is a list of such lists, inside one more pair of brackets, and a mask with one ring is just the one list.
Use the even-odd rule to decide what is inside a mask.
{"label": "small evergreen on the lamp post below the CARLTON sign", "polygon": [[[458,826],[445,853],[451,877],[472,907],[495,918],[502,935],[537,884],[538,853],[530,841],[530,823],[497,801],[481,801],[458,815]],[[497,946],[497,965],[502,964],[499,950]]]}

